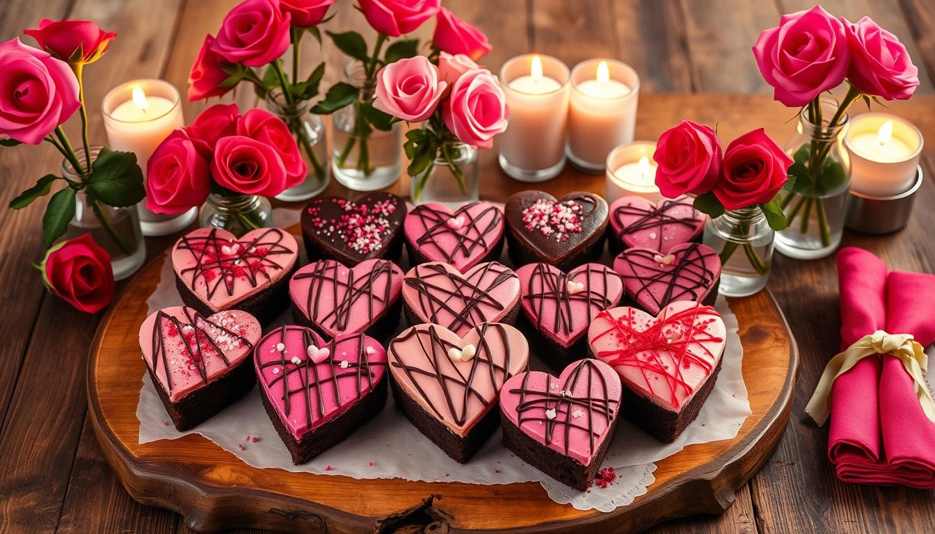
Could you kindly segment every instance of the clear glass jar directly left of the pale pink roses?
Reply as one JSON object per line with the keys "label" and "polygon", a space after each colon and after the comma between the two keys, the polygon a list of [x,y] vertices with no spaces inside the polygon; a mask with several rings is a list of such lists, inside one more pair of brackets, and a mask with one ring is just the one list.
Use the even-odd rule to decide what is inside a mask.
{"label": "clear glass jar directly left of the pale pink roses", "polygon": [[353,191],[377,191],[399,180],[402,171],[402,129],[395,123],[389,131],[367,123],[360,112],[373,104],[374,85],[368,82],[364,65],[358,61],[344,67],[344,78],[360,87],[360,98],[331,115],[332,160],[335,180]]}

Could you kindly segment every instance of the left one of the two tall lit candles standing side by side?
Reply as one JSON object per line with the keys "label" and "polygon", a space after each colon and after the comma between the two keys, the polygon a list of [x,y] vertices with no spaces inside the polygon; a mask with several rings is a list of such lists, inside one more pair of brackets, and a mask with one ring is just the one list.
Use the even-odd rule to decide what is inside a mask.
{"label": "left one of the two tall lit candles standing side by side", "polygon": [[568,67],[551,56],[517,56],[500,69],[500,83],[510,106],[500,167],[516,180],[554,178],[565,166]]}

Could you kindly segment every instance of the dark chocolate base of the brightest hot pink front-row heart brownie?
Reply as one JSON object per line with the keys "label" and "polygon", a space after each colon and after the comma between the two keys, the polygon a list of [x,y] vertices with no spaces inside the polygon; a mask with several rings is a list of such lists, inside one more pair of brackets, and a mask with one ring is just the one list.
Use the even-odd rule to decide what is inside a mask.
{"label": "dark chocolate base of the brightest hot pink front-row heart brownie", "polygon": [[286,449],[289,450],[289,454],[292,455],[293,463],[298,466],[317,455],[321,455],[380,413],[383,406],[386,405],[387,374],[388,372],[383,373],[380,382],[377,382],[373,389],[360,397],[348,411],[338,414],[334,419],[318,428],[309,430],[299,440],[296,440],[289,428],[282,423],[276,409],[273,408],[269,398],[266,397],[266,390],[261,388],[260,397],[263,397],[263,407],[266,408],[266,415],[273,422],[276,433],[280,435],[280,439],[285,444]]}

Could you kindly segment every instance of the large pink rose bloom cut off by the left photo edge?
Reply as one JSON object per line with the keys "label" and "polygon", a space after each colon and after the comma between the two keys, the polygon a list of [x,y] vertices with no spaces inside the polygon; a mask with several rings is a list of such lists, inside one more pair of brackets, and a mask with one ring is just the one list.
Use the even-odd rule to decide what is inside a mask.
{"label": "large pink rose bloom cut off by the left photo edge", "polygon": [[81,107],[78,79],[64,61],[27,47],[0,44],[0,134],[37,145]]}

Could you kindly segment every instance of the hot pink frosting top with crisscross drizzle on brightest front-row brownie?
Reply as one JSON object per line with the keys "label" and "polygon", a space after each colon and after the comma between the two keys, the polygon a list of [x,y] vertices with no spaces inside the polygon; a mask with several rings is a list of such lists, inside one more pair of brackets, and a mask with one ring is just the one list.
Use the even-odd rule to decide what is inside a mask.
{"label": "hot pink frosting top with crisscross drizzle on brightest front-row brownie", "polygon": [[[322,349],[327,354],[315,363],[310,356],[322,358]],[[300,440],[348,411],[383,379],[386,352],[363,334],[325,342],[310,328],[285,325],[260,339],[253,365],[269,403]]]}

